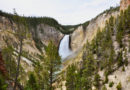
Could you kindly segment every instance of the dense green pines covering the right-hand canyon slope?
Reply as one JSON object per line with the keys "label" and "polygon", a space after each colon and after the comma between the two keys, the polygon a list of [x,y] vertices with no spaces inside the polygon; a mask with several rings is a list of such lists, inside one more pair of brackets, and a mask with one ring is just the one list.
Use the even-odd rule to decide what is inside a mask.
{"label": "dense green pines covering the right-hand canyon slope", "polygon": [[[92,40],[91,44],[87,43],[86,47],[84,48],[80,70],[76,69],[76,67],[68,67],[66,76],[66,85],[68,85],[68,90],[70,90],[70,88],[73,88],[72,90],[91,90],[92,84],[96,86],[97,89],[99,89],[100,76],[98,74],[94,75],[98,71],[98,69],[105,69],[105,81],[103,82],[103,84],[105,84],[109,81],[108,75],[115,70],[114,65],[116,63],[118,64],[118,66],[122,66],[124,64],[125,61],[123,61],[122,51],[119,53],[118,57],[115,58],[116,54],[113,47],[113,35],[116,35],[116,39],[122,47],[122,38],[125,35],[125,32],[128,31],[123,31],[125,29],[128,29],[128,27],[124,24],[128,19],[128,11],[125,15],[127,19],[122,17],[122,15],[124,15],[124,13],[122,13],[117,19],[111,16],[110,19],[106,21],[106,25],[103,30],[98,28],[97,35]],[[93,58],[94,55],[97,56],[97,61]],[[76,79],[77,74],[75,73],[75,71],[78,71],[78,73],[80,73],[78,77],[78,80],[81,81],[79,81],[79,86],[77,86],[76,84],[76,81],[78,80]],[[113,82],[110,82],[109,87],[112,87],[113,84]],[[77,87],[79,88],[77,89]],[[107,90],[107,88],[103,87],[102,90]]]}

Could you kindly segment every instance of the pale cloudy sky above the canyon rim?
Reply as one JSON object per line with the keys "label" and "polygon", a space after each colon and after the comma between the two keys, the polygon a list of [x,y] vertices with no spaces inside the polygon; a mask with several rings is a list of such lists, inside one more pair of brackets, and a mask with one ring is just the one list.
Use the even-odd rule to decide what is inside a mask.
{"label": "pale cloudy sky above the canyon rim", "polygon": [[47,16],[60,24],[75,25],[91,20],[120,0],[0,0],[0,10],[19,15]]}

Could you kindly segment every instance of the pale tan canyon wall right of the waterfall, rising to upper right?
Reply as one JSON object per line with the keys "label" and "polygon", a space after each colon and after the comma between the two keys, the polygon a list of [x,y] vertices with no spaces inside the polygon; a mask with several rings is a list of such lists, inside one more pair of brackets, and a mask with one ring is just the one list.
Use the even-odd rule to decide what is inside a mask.
{"label": "pale tan canyon wall right of the waterfall, rising to upper right", "polygon": [[92,19],[89,22],[89,25],[84,30],[83,26],[79,26],[71,35],[71,48],[73,51],[82,48],[86,41],[90,42],[95,36],[98,31],[98,28],[101,29],[105,27],[105,22],[112,16],[117,17],[119,11],[115,11],[112,13],[103,13],[98,17]]}

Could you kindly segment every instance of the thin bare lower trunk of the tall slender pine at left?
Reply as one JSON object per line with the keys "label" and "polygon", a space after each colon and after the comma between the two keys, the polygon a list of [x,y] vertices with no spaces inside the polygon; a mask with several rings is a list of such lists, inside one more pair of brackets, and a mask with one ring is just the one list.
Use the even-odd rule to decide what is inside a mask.
{"label": "thin bare lower trunk of the tall slender pine at left", "polygon": [[18,64],[17,64],[17,69],[16,69],[16,77],[15,77],[15,83],[14,83],[13,90],[16,90],[16,86],[17,86],[17,81],[18,81],[18,76],[19,76],[20,59],[21,59],[21,55],[22,55],[22,46],[23,46],[23,39],[20,39],[20,51],[19,51],[19,55],[18,55]]}

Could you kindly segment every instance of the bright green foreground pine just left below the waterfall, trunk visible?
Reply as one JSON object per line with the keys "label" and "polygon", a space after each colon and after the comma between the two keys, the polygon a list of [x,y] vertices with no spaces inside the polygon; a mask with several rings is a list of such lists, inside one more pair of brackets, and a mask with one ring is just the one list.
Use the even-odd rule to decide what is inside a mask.
{"label": "bright green foreground pine just left below the waterfall, trunk visible", "polygon": [[57,47],[52,43],[52,41],[50,41],[46,48],[46,57],[44,63],[49,75],[49,90],[53,89],[53,81],[56,79],[57,73],[61,67],[61,58],[57,50]]}

